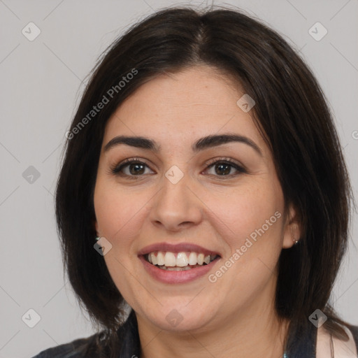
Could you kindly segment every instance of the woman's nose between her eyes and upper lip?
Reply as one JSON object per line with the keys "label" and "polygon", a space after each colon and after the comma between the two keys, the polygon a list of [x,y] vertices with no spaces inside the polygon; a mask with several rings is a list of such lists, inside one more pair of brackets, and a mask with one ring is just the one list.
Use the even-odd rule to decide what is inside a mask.
{"label": "woman's nose between her eyes and upper lip", "polygon": [[185,174],[176,184],[164,177],[150,209],[151,222],[167,231],[180,231],[199,224],[202,217],[203,203],[189,176]]}

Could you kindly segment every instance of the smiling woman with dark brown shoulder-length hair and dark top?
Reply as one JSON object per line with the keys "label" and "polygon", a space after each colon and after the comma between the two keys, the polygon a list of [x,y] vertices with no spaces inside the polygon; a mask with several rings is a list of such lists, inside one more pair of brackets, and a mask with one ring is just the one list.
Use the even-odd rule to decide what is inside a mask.
{"label": "smiling woman with dark brown shoulder-length hair and dark top", "polygon": [[66,136],[64,264],[101,331],[36,357],[355,357],[358,327],[328,303],[348,173],[278,34],[233,10],[155,13],[101,59]]}

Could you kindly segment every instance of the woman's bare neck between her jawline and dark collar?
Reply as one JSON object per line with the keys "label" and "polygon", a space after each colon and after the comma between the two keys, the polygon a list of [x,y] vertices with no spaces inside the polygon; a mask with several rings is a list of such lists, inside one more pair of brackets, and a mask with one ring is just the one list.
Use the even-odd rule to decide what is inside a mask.
{"label": "woman's bare neck between her jawline and dark collar", "polygon": [[278,320],[273,303],[262,302],[199,330],[164,331],[148,327],[138,315],[137,320],[141,358],[280,358],[288,328],[287,321]]}

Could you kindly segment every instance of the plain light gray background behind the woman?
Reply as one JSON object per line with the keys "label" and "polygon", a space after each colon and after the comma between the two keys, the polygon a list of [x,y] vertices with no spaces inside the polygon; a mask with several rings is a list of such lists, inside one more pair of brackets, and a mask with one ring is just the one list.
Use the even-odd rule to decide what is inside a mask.
{"label": "plain light gray background behind the woman", "polygon": [[[329,99],[357,196],[358,1],[215,1],[228,3],[261,18],[301,51]],[[64,134],[82,81],[101,52],[130,24],[178,4],[184,3],[0,0],[0,357],[31,357],[94,332],[64,281],[55,227],[53,193]],[[22,34],[22,29],[35,34],[29,22],[41,30],[34,41]],[[316,22],[328,31],[320,41],[308,31]],[[313,31],[322,34],[320,28]],[[358,324],[357,228],[354,213],[349,255],[332,299],[353,324]],[[22,320],[30,308],[41,316],[32,329]],[[25,317],[27,323],[34,320],[31,312]]]}

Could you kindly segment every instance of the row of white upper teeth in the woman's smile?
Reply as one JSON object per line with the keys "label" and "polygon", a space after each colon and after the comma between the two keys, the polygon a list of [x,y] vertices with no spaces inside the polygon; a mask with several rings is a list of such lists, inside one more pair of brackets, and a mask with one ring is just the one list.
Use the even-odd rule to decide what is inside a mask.
{"label": "row of white upper teeth in the woman's smile", "polygon": [[178,254],[176,255],[175,253],[169,251],[166,252],[158,251],[158,252],[150,252],[148,254],[148,261],[151,264],[158,265],[158,266],[185,267],[188,265],[196,265],[196,264],[202,265],[204,262],[206,264],[209,264],[210,261],[213,261],[213,259],[215,259],[215,257],[216,255],[205,256],[203,253],[196,254],[196,252],[190,252],[188,257],[185,252],[178,252]]}

